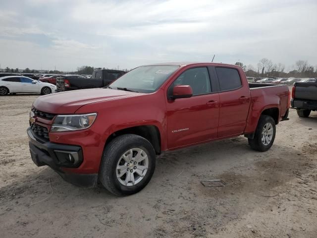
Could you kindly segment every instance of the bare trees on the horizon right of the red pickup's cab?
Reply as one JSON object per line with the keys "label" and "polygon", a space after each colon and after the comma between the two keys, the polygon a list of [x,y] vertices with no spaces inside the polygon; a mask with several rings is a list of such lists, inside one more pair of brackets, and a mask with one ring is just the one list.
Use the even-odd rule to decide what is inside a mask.
{"label": "bare trees on the horizon right of the red pickup's cab", "polygon": [[307,60],[297,60],[292,66],[293,70],[289,72],[285,72],[285,64],[273,63],[272,60],[266,58],[259,60],[257,68],[252,64],[247,66],[243,62],[236,62],[235,64],[242,67],[246,75],[250,77],[317,77],[317,66],[314,67]]}

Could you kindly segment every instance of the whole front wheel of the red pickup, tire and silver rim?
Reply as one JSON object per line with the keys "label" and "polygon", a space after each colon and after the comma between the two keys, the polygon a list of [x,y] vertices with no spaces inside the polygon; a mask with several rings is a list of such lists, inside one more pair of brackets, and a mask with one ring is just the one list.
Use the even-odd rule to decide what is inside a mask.
{"label": "whole front wheel of the red pickup, tire and silver rim", "polygon": [[99,178],[115,195],[142,190],[155,170],[156,155],[152,144],[135,134],[114,138],[105,148]]}

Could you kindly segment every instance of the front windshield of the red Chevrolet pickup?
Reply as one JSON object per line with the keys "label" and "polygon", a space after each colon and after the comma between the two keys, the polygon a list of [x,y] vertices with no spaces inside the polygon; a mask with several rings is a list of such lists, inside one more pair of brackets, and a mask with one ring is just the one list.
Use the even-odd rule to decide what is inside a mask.
{"label": "front windshield of the red Chevrolet pickup", "polygon": [[149,65],[137,67],[111,83],[112,89],[153,93],[179,68],[177,65]]}

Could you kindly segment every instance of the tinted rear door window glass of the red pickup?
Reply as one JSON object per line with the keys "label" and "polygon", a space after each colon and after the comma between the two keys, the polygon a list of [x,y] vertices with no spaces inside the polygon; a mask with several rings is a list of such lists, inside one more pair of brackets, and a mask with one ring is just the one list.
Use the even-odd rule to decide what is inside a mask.
{"label": "tinted rear door window glass of the red pickup", "polygon": [[238,70],[234,68],[216,67],[220,90],[227,91],[241,87],[241,79]]}

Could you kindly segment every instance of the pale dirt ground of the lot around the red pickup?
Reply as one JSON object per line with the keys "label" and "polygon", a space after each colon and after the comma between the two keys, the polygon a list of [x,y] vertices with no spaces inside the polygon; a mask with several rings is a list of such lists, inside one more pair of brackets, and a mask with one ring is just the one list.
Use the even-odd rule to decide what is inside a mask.
{"label": "pale dirt ground of the lot around the red pickup", "polygon": [[291,110],[267,152],[240,136],[165,153],[144,190],[115,197],[34,165],[26,129],[37,97],[0,97],[1,238],[317,237],[317,112]]}

